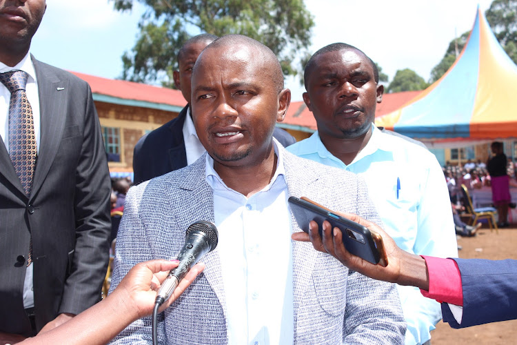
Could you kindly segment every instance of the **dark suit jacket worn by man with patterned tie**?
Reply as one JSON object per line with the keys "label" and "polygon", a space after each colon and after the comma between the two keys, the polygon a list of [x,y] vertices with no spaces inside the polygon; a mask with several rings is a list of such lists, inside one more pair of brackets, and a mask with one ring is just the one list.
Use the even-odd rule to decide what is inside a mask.
{"label": "dark suit jacket worn by man with patterned tie", "polygon": [[28,334],[23,279],[32,233],[38,330],[99,301],[108,264],[110,176],[90,86],[32,59],[41,141],[30,197],[0,144],[0,331]]}

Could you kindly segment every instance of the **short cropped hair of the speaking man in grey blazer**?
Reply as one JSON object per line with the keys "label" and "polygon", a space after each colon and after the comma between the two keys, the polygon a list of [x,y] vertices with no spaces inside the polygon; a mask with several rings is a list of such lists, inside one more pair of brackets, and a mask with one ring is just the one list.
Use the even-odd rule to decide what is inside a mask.
{"label": "short cropped hair of the speaking man in grey blazer", "polygon": [[219,37],[205,49],[210,48],[220,48],[223,46],[242,46],[243,44],[247,44],[248,46],[252,46],[259,50],[263,54],[263,61],[270,62],[273,65],[272,69],[272,79],[274,82],[274,86],[276,88],[276,92],[280,93],[284,88],[284,80],[283,80],[283,72],[282,66],[280,65],[280,61],[278,61],[278,57],[274,54],[274,52],[263,43],[252,39],[251,37],[247,37],[243,34],[227,34],[223,37]]}

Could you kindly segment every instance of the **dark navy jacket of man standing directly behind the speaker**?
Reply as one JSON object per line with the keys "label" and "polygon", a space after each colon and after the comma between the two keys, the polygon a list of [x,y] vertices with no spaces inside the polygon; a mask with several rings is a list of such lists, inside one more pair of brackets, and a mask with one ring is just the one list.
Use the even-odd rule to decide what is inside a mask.
{"label": "dark navy jacket of man standing directly behind the speaker", "polygon": [[[136,143],[133,152],[135,184],[187,166],[183,140],[187,108],[188,105],[181,110],[178,117],[144,135]],[[296,142],[292,135],[281,128],[274,128],[273,137],[284,147]]]}

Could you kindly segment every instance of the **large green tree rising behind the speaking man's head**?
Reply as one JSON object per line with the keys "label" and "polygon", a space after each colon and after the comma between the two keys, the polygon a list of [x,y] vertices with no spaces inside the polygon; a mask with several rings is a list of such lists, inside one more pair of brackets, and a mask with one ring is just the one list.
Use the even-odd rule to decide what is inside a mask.
{"label": "large green tree rising behind the speaking man's head", "polygon": [[[308,54],[314,26],[303,0],[109,0],[116,10],[146,6],[134,47],[124,53],[123,79],[172,87],[176,54],[194,34],[245,34],[271,48],[285,75]],[[299,61],[298,61],[299,62]]]}

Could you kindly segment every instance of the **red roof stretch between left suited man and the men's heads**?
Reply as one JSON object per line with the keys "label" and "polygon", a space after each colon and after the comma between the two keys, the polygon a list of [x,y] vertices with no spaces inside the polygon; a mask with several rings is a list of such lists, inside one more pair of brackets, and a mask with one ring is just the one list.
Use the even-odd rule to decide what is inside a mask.
{"label": "red roof stretch between left suited man and the men's heads", "polygon": [[72,74],[89,83],[92,92],[98,95],[179,107],[183,107],[187,103],[179,90],[134,83],[133,81],[94,77],[79,72],[72,72]]}

